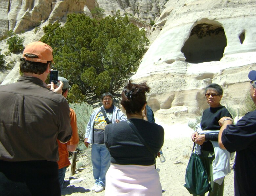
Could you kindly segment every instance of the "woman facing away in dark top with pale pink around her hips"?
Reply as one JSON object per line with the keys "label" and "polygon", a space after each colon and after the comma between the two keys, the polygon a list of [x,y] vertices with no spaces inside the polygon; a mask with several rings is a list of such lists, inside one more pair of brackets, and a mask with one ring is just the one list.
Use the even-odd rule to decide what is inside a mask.
{"label": "woman facing away in dark top with pale pink around her hips", "polygon": [[149,90],[146,83],[135,84],[129,80],[122,92],[121,105],[126,111],[127,121],[136,127],[142,140],[127,121],[109,124],[105,128],[105,144],[111,155],[106,174],[106,196],[162,195],[155,158],[163,146],[164,130],[156,123],[143,120],[142,116]]}

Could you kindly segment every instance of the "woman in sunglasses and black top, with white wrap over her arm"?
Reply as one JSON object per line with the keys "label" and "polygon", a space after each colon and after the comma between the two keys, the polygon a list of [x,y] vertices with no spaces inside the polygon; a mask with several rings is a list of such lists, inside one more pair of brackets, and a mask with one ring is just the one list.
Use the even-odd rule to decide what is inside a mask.
{"label": "woman in sunglasses and black top, with white wrap over her arm", "polygon": [[[205,98],[210,107],[203,112],[201,128],[198,128],[191,137],[193,142],[200,145],[200,147],[198,146],[201,150],[200,158],[212,188],[208,196],[223,196],[224,176],[230,172],[229,157],[227,157],[229,153],[220,149],[218,145],[218,131],[220,130],[218,121],[224,116],[232,118],[229,111],[220,103],[222,94],[223,90],[218,84],[213,83],[206,87]],[[216,158],[217,153],[218,157]],[[223,160],[219,155],[223,157]],[[216,160],[214,160],[215,158]]]}

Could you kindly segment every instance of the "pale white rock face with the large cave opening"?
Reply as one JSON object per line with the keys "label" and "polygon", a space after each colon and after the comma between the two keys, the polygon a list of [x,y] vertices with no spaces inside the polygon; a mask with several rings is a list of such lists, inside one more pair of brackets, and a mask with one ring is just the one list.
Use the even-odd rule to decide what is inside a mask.
{"label": "pale white rock face with the large cave opening", "polygon": [[248,73],[256,69],[255,8],[252,0],[166,3],[133,76],[151,87],[148,103],[156,115],[176,121],[199,114],[208,107],[210,83],[223,87],[222,104],[241,106]]}

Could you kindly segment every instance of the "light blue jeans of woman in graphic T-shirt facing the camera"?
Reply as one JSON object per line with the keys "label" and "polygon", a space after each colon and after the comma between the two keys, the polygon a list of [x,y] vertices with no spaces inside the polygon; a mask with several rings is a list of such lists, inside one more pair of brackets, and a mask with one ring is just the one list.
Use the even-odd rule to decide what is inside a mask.
{"label": "light blue jeans of woman in graphic T-shirt facing the camera", "polygon": [[92,144],[92,164],[95,184],[105,187],[110,166],[110,153],[105,144]]}

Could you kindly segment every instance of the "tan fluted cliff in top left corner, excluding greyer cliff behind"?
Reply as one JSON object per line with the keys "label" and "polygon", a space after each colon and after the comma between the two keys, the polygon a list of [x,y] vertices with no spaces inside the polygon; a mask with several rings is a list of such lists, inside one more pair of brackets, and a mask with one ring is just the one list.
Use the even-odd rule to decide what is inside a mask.
{"label": "tan fluted cliff in top left corner, excluding greyer cliff behind", "polygon": [[[13,30],[20,33],[34,28],[44,21],[65,22],[69,13],[85,13],[93,8],[94,0],[1,0],[0,36]],[[85,9],[86,10],[86,9]],[[87,12],[88,13],[88,12]]]}

